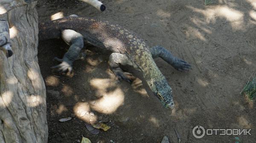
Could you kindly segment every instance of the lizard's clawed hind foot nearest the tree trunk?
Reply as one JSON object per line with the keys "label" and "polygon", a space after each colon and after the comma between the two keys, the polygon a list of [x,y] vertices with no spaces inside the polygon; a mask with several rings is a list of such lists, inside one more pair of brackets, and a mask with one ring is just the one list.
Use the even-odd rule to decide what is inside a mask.
{"label": "lizard's clawed hind foot nearest the tree trunk", "polygon": [[63,60],[63,59],[58,59],[57,57],[55,57],[53,60],[61,62],[61,64],[51,67],[52,69],[56,69],[59,73],[64,73],[66,71],[68,73],[72,72],[73,68],[72,68],[72,64],[70,64],[70,62],[67,62],[66,60]]}

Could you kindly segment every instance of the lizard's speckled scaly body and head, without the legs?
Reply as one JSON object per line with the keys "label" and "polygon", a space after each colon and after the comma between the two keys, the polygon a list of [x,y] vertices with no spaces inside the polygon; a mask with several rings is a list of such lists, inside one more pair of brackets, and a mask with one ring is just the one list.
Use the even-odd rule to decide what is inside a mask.
{"label": "lizard's speckled scaly body and head, without the legs", "polygon": [[[39,40],[60,38],[61,31],[74,30],[87,42],[99,48],[127,55],[143,72],[143,76],[155,95],[160,93],[166,107],[173,107],[172,89],[155,64],[148,46],[137,34],[107,21],[85,17],[64,17],[39,23]],[[159,97],[158,97],[159,98]]]}

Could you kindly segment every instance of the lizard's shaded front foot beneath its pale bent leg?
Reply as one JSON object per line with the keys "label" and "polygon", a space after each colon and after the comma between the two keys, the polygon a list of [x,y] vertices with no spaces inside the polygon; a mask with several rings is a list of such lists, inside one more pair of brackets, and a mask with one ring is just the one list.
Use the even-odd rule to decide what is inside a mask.
{"label": "lizard's shaded front foot beneath its pale bent leg", "polygon": [[116,69],[112,69],[112,71],[119,80],[124,80],[124,81],[128,82],[129,84],[132,83],[132,81],[133,81],[132,77],[133,76],[132,76],[131,73],[124,72],[120,67],[118,67]]}

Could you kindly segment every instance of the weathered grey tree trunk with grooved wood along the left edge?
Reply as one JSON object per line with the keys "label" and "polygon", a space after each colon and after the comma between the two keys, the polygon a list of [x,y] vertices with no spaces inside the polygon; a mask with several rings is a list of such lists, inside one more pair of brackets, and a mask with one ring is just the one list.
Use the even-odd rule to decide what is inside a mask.
{"label": "weathered grey tree trunk with grooved wood along the left edge", "polygon": [[0,143],[47,143],[46,89],[37,58],[36,3],[0,0],[0,19],[9,24],[14,53],[7,58],[0,50]]}

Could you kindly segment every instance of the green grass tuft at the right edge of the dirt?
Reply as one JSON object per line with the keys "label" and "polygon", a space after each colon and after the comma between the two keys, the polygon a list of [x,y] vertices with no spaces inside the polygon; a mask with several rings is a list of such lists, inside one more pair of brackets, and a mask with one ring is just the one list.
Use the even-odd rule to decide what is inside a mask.
{"label": "green grass tuft at the right edge of the dirt", "polygon": [[245,95],[249,101],[253,101],[256,98],[256,76],[255,74],[250,77],[249,81],[244,85],[243,90],[240,93]]}

